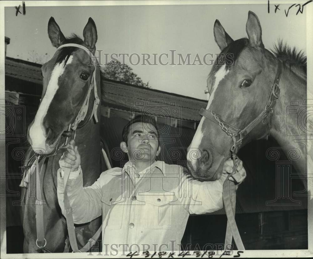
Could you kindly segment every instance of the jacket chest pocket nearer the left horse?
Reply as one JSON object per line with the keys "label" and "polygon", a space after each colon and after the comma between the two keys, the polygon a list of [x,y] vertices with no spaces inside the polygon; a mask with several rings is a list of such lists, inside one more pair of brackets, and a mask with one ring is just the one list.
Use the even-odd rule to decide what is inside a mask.
{"label": "jacket chest pocket nearer the left horse", "polygon": [[121,229],[123,221],[124,203],[119,199],[121,193],[102,195],[102,220],[105,230]]}

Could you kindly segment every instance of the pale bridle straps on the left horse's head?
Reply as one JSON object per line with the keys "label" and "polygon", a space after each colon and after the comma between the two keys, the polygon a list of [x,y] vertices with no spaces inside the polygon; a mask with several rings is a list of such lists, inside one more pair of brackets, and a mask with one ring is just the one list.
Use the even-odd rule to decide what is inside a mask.
{"label": "pale bridle straps on the left horse's head", "polygon": [[[74,122],[71,124],[71,129],[72,130],[76,130],[78,124],[85,119],[86,115],[87,115],[87,111],[88,111],[88,106],[89,106],[89,99],[90,99],[90,93],[92,88],[94,88],[94,93],[95,93],[95,101],[94,101],[94,106],[92,109],[92,113],[90,115],[89,120],[91,120],[92,116],[95,117],[95,121],[98,122],[98,117],[97,117],[97,110],[98,110],[98,105],[100,104],[100,98],[98,96],[98,92],[97,92],[97,81],[96,81],[96,67],[98,64],[98,60],[97,58],[91,53],[91,51],[89,49],[87,49],[86,47],[79,45],[79,44],[75,44],[75,43],[67,43],[67,44],[63,44],[61,46],[59,46],[57,48],[57,51],[61,48],[64,47],[77,47],[80,48],[82,50],[84,50],[91,58],[91,61],[93,63],[93,65],[95,66],[95,70],[92,74],[92,78],[91,78],[91,84],[89,86],[87,95],[85,97],[85,101],[82,105],[82,107],[80,108],[80,111],[78,113],[78,115],[76,116]],[[88,120],[88,121],[89,121]]]}

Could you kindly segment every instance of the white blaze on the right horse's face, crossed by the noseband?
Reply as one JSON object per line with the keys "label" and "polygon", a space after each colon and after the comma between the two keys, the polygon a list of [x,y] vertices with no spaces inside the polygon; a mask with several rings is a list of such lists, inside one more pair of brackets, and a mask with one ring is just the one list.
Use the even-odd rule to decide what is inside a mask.
{"label": "white blaze on the right horse's face, crossed by the noseband", "polygon": [[[212,100],[214,98],[214,94],[220,81],[228,74],[229,70],[226,70],[226,65],[223,65],[216,73],[215,73],[215,83],[212,87],[212,92],[209,95],[207,110],[209,109]],[[193,169],[196,169],[196,161],[201,158],[202,150],[199,148],[203,138],[203,130],[202,125],[204,121],[204,117],[201,118],[198,128],[196,130],[195,135],[193,136],[192,142],[188,148],[187,159],[192,162]]]}

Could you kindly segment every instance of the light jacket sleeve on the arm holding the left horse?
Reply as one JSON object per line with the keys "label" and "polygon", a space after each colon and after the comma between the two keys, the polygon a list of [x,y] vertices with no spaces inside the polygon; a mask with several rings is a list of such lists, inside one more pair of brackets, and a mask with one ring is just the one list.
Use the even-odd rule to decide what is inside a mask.
{"label": "light jacket sleeve on the arm holding the left horse", "polygon": [[[59,205],[63,215],[64,213],[64,183],[61,169],[58,170],[57,195]],[[90,222],[96,217],[101,216],[102,205],[102,186],[100,178],[88,187],[83,187],[82,171],[67,182],[67,195],[69,197],[71,208],[73,209],[73,221],[76,224]]]}

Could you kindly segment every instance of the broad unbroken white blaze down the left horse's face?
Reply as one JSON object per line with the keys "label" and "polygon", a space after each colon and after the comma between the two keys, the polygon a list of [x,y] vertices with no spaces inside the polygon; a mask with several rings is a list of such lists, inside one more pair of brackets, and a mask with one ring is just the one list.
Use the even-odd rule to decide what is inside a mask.
{"label": "broad unbroken white blaze down the left horse's face", "polygon": [[[66,65],[70,64],[73,60],[73,56],[70,56]],[[47,115],[49,106],[54,98],[55,93],[59,89],[59,77],[65,71],[66,65],[63,61],[60,64],[56,64],[51,72],[50,81],[47,86],[44,98],[41,100],[38,111],[35,116],[33,125],[29,129],[29,137],[32,140],[32,148],[34,151],[43,151],[46,149],[46,130],[43,125],[44,117]]]}

